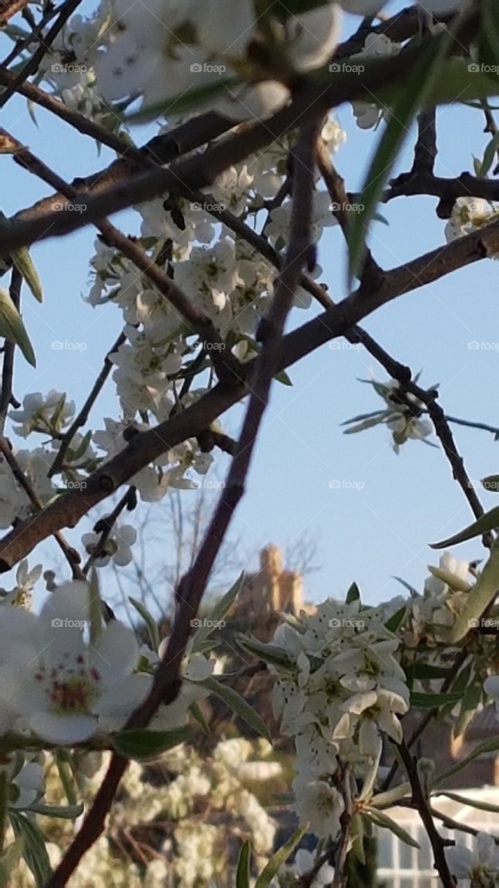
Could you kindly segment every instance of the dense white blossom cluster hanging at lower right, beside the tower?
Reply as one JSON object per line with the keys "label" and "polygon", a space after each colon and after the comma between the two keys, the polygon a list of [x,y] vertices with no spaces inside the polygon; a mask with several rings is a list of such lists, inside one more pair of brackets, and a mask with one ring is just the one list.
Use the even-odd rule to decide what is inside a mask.
{"label": "dense white blossom cluster hanging at lower right, beside the tower", "polygon": [[274,711],[297,753],[297,815],[317,836],[334,839],[345,807],[340,764],[361,779],[379,762],[382,733],[401,740],[408,687],[395,657],[399,639],[382,611],[361,607],[359,599],[327,599],[315,614],[282,625],[273,645],[282,663],[273,658],[270,667]]}

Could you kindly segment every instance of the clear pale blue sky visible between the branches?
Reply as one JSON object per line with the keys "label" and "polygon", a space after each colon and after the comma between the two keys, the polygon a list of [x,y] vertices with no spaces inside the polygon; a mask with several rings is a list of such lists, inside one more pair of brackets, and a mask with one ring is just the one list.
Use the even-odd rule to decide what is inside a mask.
{"label": "clear pale blue sky visible between the branches", "polygon": [[[360,131],[350,107],[340,108],[337,116],[348,135],[337,155],[337,168],[348,189],[356,190],[378,134]],[[4,108],[2,123],[59,175],[69,180],[84,176],[112,159],[106,149],[98,156],[91,139],[73,133],[42,109],[36,109],[36,119],[38,128],[24,99],[13,98]],[[437,172],[451,176],[470,170],[471,155],[481,156],[488,139],[480,113],[463,107],[444,108],[438,125]],[[154,125],[142,127],[135,136],[141,143],[155,131]],[[398,170],[409,168],[413,141],[408,139]],[[6,215],[47,194],[43,183],[20,170],[8,156],[2,156],[0,164],[4,182],[1,209]],[[443,244],[445,223],[436,217],[435,206],[432,198],[416,197],[382,208],[390,225],[376,224],[371,235],[371,247],[381,266],[398,266]],[[116,216],[114,222],[132,232],[137,229],[138,217],[128,212]],[[121,328],[121,313],[115,307],[92,309],[82,299],[88,289],[94,236],[93,229],[85,228],[32,250],[44,281],[45,299],[44,305],[38,305],[28,292],[23,295],[24,319],[36,347],[38,366],[31,369],[17,355],[15,394],[20,400],[28,391],[46,392],[54,387],[67,389],[79,407]],[[332,297],[345,297],[345,250],[339,228],[326,231],[319,261],[321,280],[328,281]],[[394,357],[415,371],[423,369],[423,385],[440,383],[441,404],[449,414],[499,424],[499,345],[477,350],[468,347],[471,341],[499,341],[497,289],[498,266],[487,260],[400,297],[368,318],[364,326]],[[291,324],[308,317],[310,313],[295,310]],[[82,351],[54,350],[54,341],[86,347]],[[438,558],[428,543],[471,520],[469,506],[440,449],[408,442],[396,456],[384,427],[354,436],[343,434],[340,424],[345,419],[382,406],[370,386],[356,381],[371,372],[386,378],[384,370],[362,350],[325,345],[291,369],[292,388],[274,385],[247,496],[234,519],[233,534],[242,538],[244,552],[257,551],[268,542],[289,546],[304,532],[316,538],[320,569],[307,578],[306,596],[311,600],[342,596],[355,580],[363,598],[374,603],[401,591],[392,575],[421,587],[426,565]],[[91,427],[102,427],[103,416],[116,416],[112,383],[107,384],[91,415]],[[240,408],[226,416],[227,431],[237,433],[241,416]],[[471,479],[499,471],[499,444],[492,435],[460,427],[454,431]],[[37,437],[28,439],[30,446]],[[24,446],[22,441],[18,443]],[[330,488],[329,481],[335,479],[362,482],[363,487]],[[186,491],[185,496],[197,495]],[[496,504],[493,494],[480,496],[486,508]],[[162,544],[168,546],[168,541]],[[162,544],[154,543],[156,561],[162,559]],[[44,546],[44,552],[52,559],[53,546]],[[481,558],[482,552],[478,540],[456,550],[462,558]],[[36,560],[31,556],[31,563]],[[49,560],[44,562],[44,567],[50,566]],[[7,586],[9,579],[3,581]]]}

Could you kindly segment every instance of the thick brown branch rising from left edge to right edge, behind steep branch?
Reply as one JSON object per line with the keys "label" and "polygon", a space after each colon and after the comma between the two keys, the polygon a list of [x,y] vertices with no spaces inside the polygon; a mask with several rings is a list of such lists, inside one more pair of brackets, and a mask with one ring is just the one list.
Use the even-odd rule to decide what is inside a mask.
{"label": "thick brown branch rising from left edge to right edge, behind steep branch", "polygon": [[[306,354],[313,352],[330,339],[352,333],[352,328],[380,305],[400,297],[410,289],[436,281],[459,267],[478,262],[487,255],[484,244],[495,245],[499,250],[499,223],[469,234],[432,253],[419,257],[408,265],[385,272],[379,291],[362,299],[353,293],[338,305],[331,306],[317,318],[293,330],[283,339],[279,369],[286,369]],[[364,337],[367,334],[362,333]],[[367,341],[364,339],[364,341]],[[370,340],[373,342],[373,340]],[[387,359],[390,356],[387,355]],[[397,362],[384,364],[394,376]],[[403,365],[400,365],[403,366]],[[83,491],[71,491],[59,496],[44,511],[28,521],[20,522],[0,541],[0,573],[9,570],[21,558],[25,558],[37,543],[61,527],[75,527],[84,514],[125,484],[136,472],[151,463],[162,453],[176,447],[187,438],[195,437],[232,407],[247,393],[247,380],[254,369],[252,362],[244,366],[240,380],[217,385],[197,403],[181,413],[171,416],[150,432],[135,435],[128,447],[118,456],[93,472]],[[410,371],[408,371],[410,374]]]}

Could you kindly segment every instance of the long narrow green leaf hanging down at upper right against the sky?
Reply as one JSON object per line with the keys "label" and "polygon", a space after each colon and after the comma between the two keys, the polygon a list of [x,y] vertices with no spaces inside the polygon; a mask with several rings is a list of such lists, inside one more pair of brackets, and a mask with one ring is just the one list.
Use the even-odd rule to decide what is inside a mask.
{"label": "long narrow green leaf hanging down at upper right against the sky", "polygon": [[393,163],[400,155],[411,123],[432,89],[450,40],[451,32],[441,34],[439,39],[433,40],[424,50],[408,80],[407,88],[400,93],[391,109],[390,119],[376,148],[360,194],[359,203],[364,209],[355,213],[348,229],[349,283],[360,273],[366,255],[368,229],[377,203],[390,177]]}

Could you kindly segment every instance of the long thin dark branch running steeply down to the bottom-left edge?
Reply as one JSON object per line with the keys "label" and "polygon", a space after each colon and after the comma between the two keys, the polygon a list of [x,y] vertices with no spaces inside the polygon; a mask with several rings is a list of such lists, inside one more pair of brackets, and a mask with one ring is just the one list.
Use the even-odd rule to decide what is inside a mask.
{"label": "long thin dark branch running steeply down to the bottom-left edge", "polygon": [[[242,424],[241,437],[234,460],[227,474],[226,487],[210,520],[194,564],[178,584],[176,591],[177,614],[169,644],[154,677],[151,693],[139,710],[132,715],[128,723],[129,726],[147,725],[162,702],[170,702],[178,695],[180,666],[186,650],[186,643],[192,632],[192,621],[197,614],[203,591],[234,514],[234,509],[242,496],[249,463],[257,440],[257,432],[265,413],[268,392],[279,365],[279,345],[284,323],[290,311],[299,274],[306,262],[307,250],[310,245],[315,128],[311,128],[311,130],[303,133],[297,147],[302,163],[299,166],[299,173],[295,176],[293,218],[286,266],[277,281],[273,303],[266,319],[265,340],[257,359],[254,389]],[[100,832],[104,829],[107,812],[112,805],[125,767],[126,762],[122,757],[114,756],[112,758],[104,782],[90,812],[83,821],[82,829],[59,863],[59,867],[47,882],[46,888],[63,888],[83,854],[99,837]]]}

